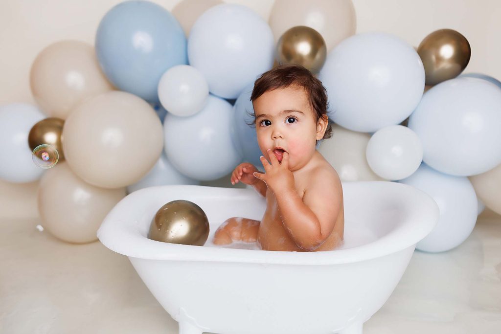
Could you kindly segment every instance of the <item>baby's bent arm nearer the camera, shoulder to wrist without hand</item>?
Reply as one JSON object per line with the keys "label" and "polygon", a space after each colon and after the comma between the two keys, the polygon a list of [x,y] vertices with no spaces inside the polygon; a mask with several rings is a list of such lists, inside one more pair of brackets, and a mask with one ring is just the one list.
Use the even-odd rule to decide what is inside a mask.
{"label": "baby's bent arm nearer the camera, shoulder to wrist without hand", "polygon": [[311,251],[332,233],[341,210],[343,190],[329,171],[320,171],[313,173],[303,199],[296,190],[275,197],[285,229],[300,248]]}

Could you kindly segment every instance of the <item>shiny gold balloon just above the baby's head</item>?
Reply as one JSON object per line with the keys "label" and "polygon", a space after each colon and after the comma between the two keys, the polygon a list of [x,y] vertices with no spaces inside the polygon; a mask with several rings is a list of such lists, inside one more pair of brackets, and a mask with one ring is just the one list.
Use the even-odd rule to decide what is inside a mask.
{"label": "shiny gold balloon just above the baby's head", "polygon": [[276,60],[280,64],[303,65],[313,73],[319,73],[327,57],[322,35],[306,26],[292,27],[279,39]]}

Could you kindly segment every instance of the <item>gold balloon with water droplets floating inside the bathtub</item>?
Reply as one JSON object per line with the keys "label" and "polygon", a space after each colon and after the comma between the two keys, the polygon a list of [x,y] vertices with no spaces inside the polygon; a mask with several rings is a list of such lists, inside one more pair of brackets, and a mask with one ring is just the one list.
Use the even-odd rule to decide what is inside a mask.
{"label": "gold balloon with water droplets floating inside the bathtub", "polygon": [[148,238],[156,241],[203,246],[209,236],[205,212],[193,202],[168,202],[155,214]]}

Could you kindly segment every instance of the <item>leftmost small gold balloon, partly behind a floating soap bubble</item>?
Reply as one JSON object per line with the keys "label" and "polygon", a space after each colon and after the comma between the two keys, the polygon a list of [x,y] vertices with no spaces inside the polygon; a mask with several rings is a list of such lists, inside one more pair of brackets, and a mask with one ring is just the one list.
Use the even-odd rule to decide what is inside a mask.
{"label": "leftmost small gold balloon, partly behind a floating soap bubble", "polygon": [[64,161],[63,145],[61,134],[63,133],[64,120],[56,117],[49,117],[36,123],[28,134],[28,145],[33,151],[42,144],[51,145],[59,153],[59,161]]}

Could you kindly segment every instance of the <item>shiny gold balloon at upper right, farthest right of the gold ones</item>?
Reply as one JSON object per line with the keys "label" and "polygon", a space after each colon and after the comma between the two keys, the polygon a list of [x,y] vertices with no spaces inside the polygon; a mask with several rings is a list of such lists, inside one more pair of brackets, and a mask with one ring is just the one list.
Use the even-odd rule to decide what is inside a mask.
{"label": "shiny gold balloon at upper right, farthest right of the gold ones", "polygon": [[426,74],[426,85],[457,77],[468,65],[471,48],[466,38],[452,29],[440,29],[424,38],[417,48]]}

